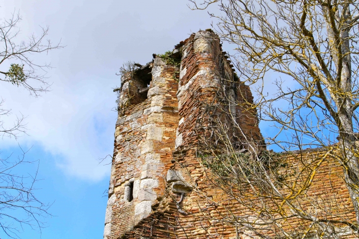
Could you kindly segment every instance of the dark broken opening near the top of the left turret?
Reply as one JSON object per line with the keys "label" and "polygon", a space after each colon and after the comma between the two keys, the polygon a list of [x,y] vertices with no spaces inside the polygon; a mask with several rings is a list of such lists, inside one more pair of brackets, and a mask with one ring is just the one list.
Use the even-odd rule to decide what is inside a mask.
{"label": "dark broken opening near the top of the left turret", "polygon": [[150,89],[150,82],[152,80],[152,68],[150,64],[143,66],[134,71],[130,82],[130,101],[131,104],[138,104],[146,101],[147,93]]}

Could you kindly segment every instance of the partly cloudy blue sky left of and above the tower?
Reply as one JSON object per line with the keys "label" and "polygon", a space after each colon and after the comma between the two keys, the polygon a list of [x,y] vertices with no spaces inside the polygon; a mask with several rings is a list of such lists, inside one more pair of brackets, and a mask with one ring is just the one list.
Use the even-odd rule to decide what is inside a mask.
{"label": "partly cloudy blue sky left of and above the tower", "polygon": [[[37,197],[53,203],[42,239],[102,238],[105,190],[110,166],[98,158],[113,152],[120,85],[115,75],[123,62],[149,62],[152,53],[172,50],[192,32],[210,27],[205,11],[191,11],[186,0],[1,0],[0,16],[20,11],[19,42],[40,26],[49,26],[49,38],[66,47],[47,55],[51,62],[51,91],[39,98],[12,85],[1,84],[3,108],[12,109],[6,122],[24,114],[28,136],[3,138],[1,155],[20,154],[18,144],[30,147],[28,160],[39,160]],[[6,71],[6,66],[0,66]],[[33,172],[35,166],[20,173]],[[105,197],[103,197],[105,196]],[[24,228],[23,239],[40,238],[38,230]],[[0,238],[6,237],[0,233]]]}

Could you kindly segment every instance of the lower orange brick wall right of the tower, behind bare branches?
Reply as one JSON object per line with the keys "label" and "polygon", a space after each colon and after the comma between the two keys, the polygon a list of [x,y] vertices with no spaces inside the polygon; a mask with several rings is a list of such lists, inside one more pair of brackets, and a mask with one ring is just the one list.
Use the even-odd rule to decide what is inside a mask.
{"label": "lower orange brick wall right of the tower, behind bare branches", "polygon": [[[288,162],[285,167],[281,168],[282,175],[286,175],[285,180],[287,185],[292,185],[295,181],[298,186],[297,190],[304,183],[304,179],[312,173],[309,169],[303,170],[303,165],[300,161],[313,161],[313,158],[322,157],[325,151],[317,151],[314,153],[303,151],[302,154],[295,153],[286,156],[285,160]],[[252,230],[248,230],[245,226],[240,226],[243,221],[240,219],[256,220],[260,223],[264,217],[261,213],[261,208],[258,205],[263,205],[263,202],[251,195],[250,188],[241,193],[238,193],[238,198],[231,198],[230,194],[223,192],[218,185],[215,184],[209,169],[204,166],[199,166],[200,161],[188,157],[183,161],[182,166],[185,170],[181,171],[183,174],[190,174],[191,178],[197,177],[195,180],[195,189],[189,195],[186,195],[185,200],[181,204],[181,208],[188,212],[187,215],[179,213],[177,218],[177,239],[207,239],[207,238],[221,238],[221,239],[255,239],[261,238]],[[314,161],[313,166],[318,163]],[[180,168],[177,168],[180,170]],[[301,171],[302,174],[293,174],[294,171]],[[187,178],[188,180],[188,178]],[[285,188],[280,188],[281,193],[285,192]],[[287,194],[288,195],[288,194]],[[233,195],[232,195],[233,196]],[[285,214],[291,214],[290,208],[283,206],[283,208],[275,208],[275,200],[271,202],[272,209],[278,211],[284,210]],[[343,171],[341,166],[335,162],[333,158],[328,158],[316,171],[314,180],[312,181],[305,194],[300,195],[295,200],[295,205],[300,205],[305,213],[312,213],[319,216],[321,219],[332,219],[339,221],[355,222],[355,210],[348,193],[347,186],[343,180]],[[280,204],[281,200],[276,203]],[[220,206],[223,205],[223,206]],[[267,208],[270,210],[271,208]],[[235,226],[236,218],[238,226]],[[223,220],[222,219],[227,219]],[[278,220],[278,225],[281,225],[286,232],[303,232],[311,223],[310,221],[301,220],[299,217],[288,218],[287,220]],[[350,232],[349,227],[341,225],[345,233]],[[278,228],[274,225],[264,225],[259,232],[268,238],[276,238],[274,232],[280,234]],[[337,232],[340,230],[337,228]],[[299,233],[300,234],[300,233]],[[339,234],[339,233],[338,233]],[[283,236],[283,235],[282,235]],[[283,236],[283,238],[285,238]],[[357,238],[351,234],[342,235],[343,239]]]}

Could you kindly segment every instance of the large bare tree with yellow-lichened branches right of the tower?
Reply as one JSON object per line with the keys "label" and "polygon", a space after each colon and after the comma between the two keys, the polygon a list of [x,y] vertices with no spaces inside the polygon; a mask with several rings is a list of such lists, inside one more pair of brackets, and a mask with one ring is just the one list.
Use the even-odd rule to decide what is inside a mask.
{"label": "large bare tree with yellow-lichened branches right of the tower", "polygon": [[[359,2],[354,0],[190,0],[190,2],[193,9],[210,9],[210,5],[217,5],[221,11],[219,14],[209,12],[217,22],[214,27],[216,33],[223,41],[235,45],[232,62],[236,62],[239,79],[256,88],[257,100],[255,103],[247,102],[250,104],[247,107],[257,108],[259,119],[272,122],[278,129],[274,136],[266,138],[267,143],[275,144],[285,151],[299,149],[299,152],[302,152],[308,147],[323,147],[323,154],[311,156],[317,159],[313,161],[314,164],[308,159],[299,159],[299,162],[302,162],[301,168],[308,170],[308,173],[300,174],[307,175],[301,178],[304,182],[313,180],[311,178],[315,177],[315,174],[310,176],[310,172],[322,169],[323,162],[340,165],[354,208],[353,212],[356,214],[355,221],[346,218],[341,223],[349,225],[358,234]],[[272,79],[273,75],[275,79]],[[268,88],[271,83],[276,87],[274,93]],[[225,126],[222,128],[226,129]],[[221,133],[218,132],[218,135],[221,136]],[[331,222],[321,222],[327,225],[324,226],[319,223],[321,219],[314,214],[301,214],[304,212],[301,208],[300,202],[303,203],[301,200],[296,201],[293,197],[291,200],[285,200],[286,197],[282,195],[281,190],[278,190],[278,185],[275,185],[273,180],[282,186],[283,182],[273,179],[275,173],[269,172],[273,169],[269,170],[264,165],[259,154],[254,153],[254,155],[250,156],[251,160],[247,156],[244,157],[246,158],[244,161],[243,157],[236,156],[234,161],[230,161],[238,163],[235,164],[236,170],[234,165],[228,165],[228,161],[225,160],[223,162],[227,162],[224,163],[227,167],[223,167],[232,173],[240,169],[244,177],[242,182],[252,187],[253,194],[257,193],[266,198],[265,194],[258,193],[256,190],[270,189],[270,198],[282,199],[283,203],[279,205],[282,207],[286,205],[292,212],[291,216],[313,223],[305,226],[308,232],[311,231],[309,227],[317,226],[319,227],[317,231],[323,232],[325,237],[334,237],[330,233],[334,228]],[[232,156],[230,158],[233,160]],[[252,167],[252,164],[257,166]],[[239,165],[242,166],[238,168]],[[244,166],[246,170],[243,171]],[[253,186],[253,181],[246,175],[252,175],[254,180],[261,181],[261,185],[263,186],[264,183],[265,186]],[[296,183],[295,185],[298,186]],[[292,188],[292,194],[304,193],[308,190],[303,186],[296,191],[295,185],[288,186]],[[311,183],[308,185],[310,186]],[[233,195],[233,198],[236,197]],[[292,205],[289,201],[296,201],[296,205]],[[257,203],[258,210],[266,211],[270,208],[263,208],[268,204],[262,204],[261,208],[260,203]],[[272,203],[277,204],[277,202]],[[277,216],[264,215],[266,216],[270,218],[271,225],[277,230],[282,230],[279,224],[276,225]],[[305,233],[301,236],[299,234],[292,236],[283,230],[281,233],[286,238],[309,237]]]}

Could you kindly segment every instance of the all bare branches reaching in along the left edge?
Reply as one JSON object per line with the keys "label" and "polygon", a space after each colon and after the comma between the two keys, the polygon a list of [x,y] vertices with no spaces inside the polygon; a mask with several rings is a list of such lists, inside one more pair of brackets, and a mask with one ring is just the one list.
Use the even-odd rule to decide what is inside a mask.
{"label": "all bare branches reaching in along the left edge", "polygon": [[[13,13],[10,19],[2,19],[0,23],[0,82],[10,83],[15,87],[23,87],[32,96],[40,96],[49,91],[46,70],[50,64],[38,63],[32,56],[60,49],[59,43],[53,44],[46,39],[49,28],[41,28],[39,35],[32,34],[27,41],[20,42],[19,13]],[[2,137],[20,137],[26,134],[24,115],[18,116],[14,122],[8,122],[6,117],[11,109],[2,108],[4,100],[0,100],[0,135]],[[21,147],[20,147],[21,149]],[[22,150],[22,149],[21,149]],[[50,205],[42,203],[34,195],[34,184],[37,171],[28,175],[19,169],[36,163],[25,159],[27,151],[22,150],[20,157],[0,157],[0,229],[10,238],[19,238],[19,233],[26,226],[41,230],[44,227],[43,218],[50,215]]]}

